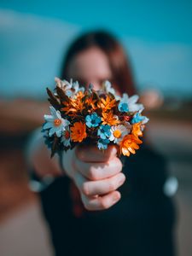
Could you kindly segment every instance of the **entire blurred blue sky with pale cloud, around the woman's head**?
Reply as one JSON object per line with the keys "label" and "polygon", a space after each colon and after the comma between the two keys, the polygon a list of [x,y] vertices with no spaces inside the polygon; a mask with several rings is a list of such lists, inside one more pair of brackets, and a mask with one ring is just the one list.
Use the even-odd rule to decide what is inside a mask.
{"label": "entire blurred blue sky with pale cloud, around the woman's head", "polygon": [[[149,86],[166,94],[192,96],[189,0],[1,0],[0,94],[42,96],[39,84],[51,84],[70,40],[94,27],[108,28],[125,45],[139,89]],[[12,92],[11,84],[15,84]]]}

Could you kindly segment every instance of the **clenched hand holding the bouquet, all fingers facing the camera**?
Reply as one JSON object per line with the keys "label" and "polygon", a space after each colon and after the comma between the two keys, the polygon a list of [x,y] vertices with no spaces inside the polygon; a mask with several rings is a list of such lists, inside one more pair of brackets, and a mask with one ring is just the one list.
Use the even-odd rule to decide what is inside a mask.
{"label": "clenched hand holding the bouquet, all fingers facing the camera", "polygon": [[125,182],[117,149],[102,152],[96,146],[79,146],[63,154],[63,166],[79,189],[84,207],[90,211],[112,207],[120,199],[116,189]]}

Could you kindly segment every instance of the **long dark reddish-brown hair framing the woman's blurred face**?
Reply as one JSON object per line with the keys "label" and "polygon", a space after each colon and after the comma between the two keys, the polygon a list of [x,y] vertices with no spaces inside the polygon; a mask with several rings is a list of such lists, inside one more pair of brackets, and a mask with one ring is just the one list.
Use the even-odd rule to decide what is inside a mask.
{"label": "long dark reddish-brown hair framing the woman's blurred face", "polygon": [[71,79],[67,75],[70,61],[75,55],[91,47],[98,47],[107,55],[113,73],[113,81],[111,82],[118,86],[120,93],[126,92],[129,96],[135,94],[136,88],[130,61],[126,58],[125,51],[117,39],[105,31],[86,32],[73,41],[73,44],[67,50],[61,68],[61,79]]}

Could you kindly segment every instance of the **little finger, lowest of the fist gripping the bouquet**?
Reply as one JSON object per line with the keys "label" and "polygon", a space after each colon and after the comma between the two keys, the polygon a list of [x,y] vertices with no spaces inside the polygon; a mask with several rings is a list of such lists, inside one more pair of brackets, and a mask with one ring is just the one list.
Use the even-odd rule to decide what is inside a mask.
{"label": "little finger, lowest of the fist gripping the bouquet", "polygon": [[89,211],[105,210],[112,207],[120,199],[119,191],[110,192],[108,195],[98,197],[87,197],[81,195],[84,207]]}

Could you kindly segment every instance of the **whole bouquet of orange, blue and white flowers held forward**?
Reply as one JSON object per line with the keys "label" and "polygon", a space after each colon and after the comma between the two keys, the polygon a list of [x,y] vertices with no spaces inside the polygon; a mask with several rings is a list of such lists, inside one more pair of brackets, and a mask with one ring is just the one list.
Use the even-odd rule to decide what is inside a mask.
{"label": "whole bouquet of orange, blue and white flowers held forward", "polygon": [[109,81],[101,90],[80,87],[79,82],[55,78],[55,90],[47,88],[50,115],[44,115],[43,132],[51,156],[79,144],[95,144],[106,150],[115,144],[119,154],[135,154],[143,143],[148,118],[142,115],[138,96],[116,94]]}

